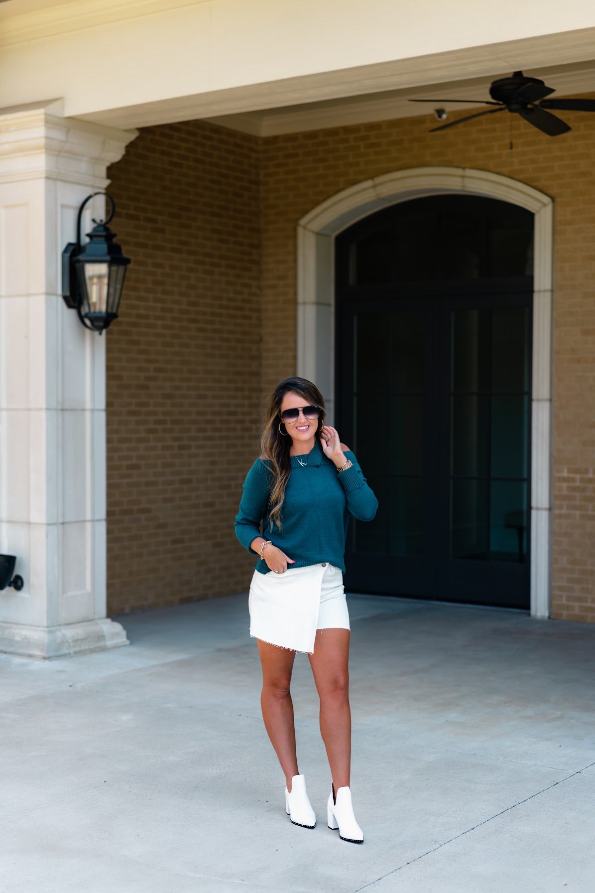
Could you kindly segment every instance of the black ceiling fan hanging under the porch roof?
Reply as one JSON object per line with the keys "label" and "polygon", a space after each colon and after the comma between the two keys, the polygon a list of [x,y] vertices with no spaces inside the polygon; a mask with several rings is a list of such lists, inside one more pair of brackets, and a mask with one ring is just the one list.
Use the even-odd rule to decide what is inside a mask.
{"label": "black ceiling fan hanging under the porch roof", "polygon": [[490,96],[492,100],[484,99],[409,99],[410,103],[473,103],[474,105],[494,105],[495,108],[486,109],[485,112],[475,112],[475,114],[467,114],[464,118],[458,118],[457,121],[449,121],[448,124],[441,124],[439,127],[433,127],[429,132],[434,133],[435,130],[446,130],[449,127],[456,127],[463,121],[471,121],[473,118],[481,118],[485,114],[494,114],[496,112],[508,112],[519,114],[521,118],[525,118],[529,124],[533,124],[543,133],[547,133],[549,137],[557,137],[560,133],[566,133],[572,129],[555,114],[551,114],[548,109],[566,110],[567,112],[595,112],[595,99],[546,99],[555,90],[552,87],[546,87],[542,80],[538,78],[529,78],[522,71],[515,71],[510,78],[500,78],[494,80],[490,85]]}

